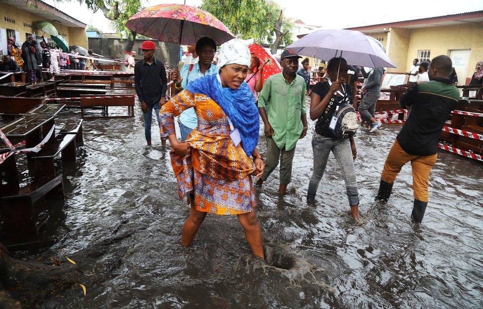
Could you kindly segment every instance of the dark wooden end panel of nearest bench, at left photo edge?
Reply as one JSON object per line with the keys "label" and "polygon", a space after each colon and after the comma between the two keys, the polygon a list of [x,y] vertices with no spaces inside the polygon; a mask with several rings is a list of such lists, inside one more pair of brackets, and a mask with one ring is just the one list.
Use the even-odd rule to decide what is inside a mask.
{"label": "dark wooden end panel of nearest bench, at left photo edge", "polygon": [[5,245],[39,240],[34,206],[30,198],[4,199],[0,207],[8,233]]}

